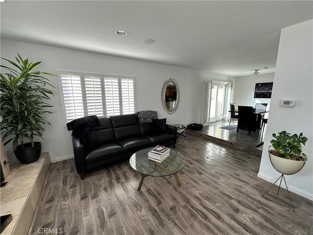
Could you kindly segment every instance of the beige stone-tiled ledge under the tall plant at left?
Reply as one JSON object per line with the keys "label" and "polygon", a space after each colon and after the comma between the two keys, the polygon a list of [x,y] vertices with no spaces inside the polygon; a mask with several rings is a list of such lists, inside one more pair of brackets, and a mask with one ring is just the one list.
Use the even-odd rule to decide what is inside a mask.
{"label": "beige stone-tiled ledge under the tall plant at left", "polygon": [[0,188],[0,211],[1,215],[12,214],[13,219],[1,235],[28,233],[50,163],[49,153],[45,152],[35,163],[10,166],[11,173],[5,179],[8,184]]}

